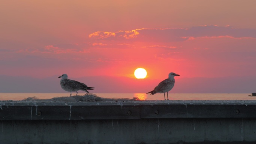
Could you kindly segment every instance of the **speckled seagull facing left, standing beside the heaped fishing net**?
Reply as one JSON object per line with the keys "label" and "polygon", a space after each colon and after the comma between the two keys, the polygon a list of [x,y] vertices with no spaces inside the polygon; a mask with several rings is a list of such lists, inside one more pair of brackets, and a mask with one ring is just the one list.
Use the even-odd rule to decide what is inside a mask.
{"label": "speckled seagull facing left, standing beside the heaped fishing net", "polygon": [[70,92],[70,96],[71,96],[71,92],[76,92],[76,95],[77,95],[77,91],[79,90],[86,91],[86,92],[88,92],[87,90],[94,90],[94,88],[88,87],[84,83],[80,83],[75,80],[68,79],[67,74],[63,74],[59,76],[59,78],[61,77],[62,77],[62,79],[60,80],[61,88],[67,92]]}

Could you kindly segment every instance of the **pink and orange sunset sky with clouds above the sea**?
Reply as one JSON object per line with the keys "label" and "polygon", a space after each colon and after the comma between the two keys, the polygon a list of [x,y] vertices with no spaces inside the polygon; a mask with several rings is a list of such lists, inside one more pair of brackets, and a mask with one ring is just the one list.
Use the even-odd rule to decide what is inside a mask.
{"label": "pink and orange sunset sky with clouds above the sea", "polygon": [[[255,0],[1,1],[0,92],[63,92],[57,77],[64,73],[95,92],[148,92],[174,72],[180,77],[172,92],[251,93],[255,5]],[[146,79],[135,79],[138,67],[147,70]]]}

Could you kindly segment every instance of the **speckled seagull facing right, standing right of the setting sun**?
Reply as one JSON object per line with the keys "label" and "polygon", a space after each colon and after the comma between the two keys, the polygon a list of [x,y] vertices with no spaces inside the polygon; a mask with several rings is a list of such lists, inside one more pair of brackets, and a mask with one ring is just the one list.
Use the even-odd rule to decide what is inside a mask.
{"label": "speckled seagull facing right, standing right of the setting sun", "polygon": [[[180,75],[176,74],[176,73],[169,73],[168,79],[165,79],[162,82],[160,82],[158,84],[158,86],[156,86],[153,91],[150,91],[147,94],[151,93],[150,95],[154,95],[156,93],[161,93],[161,94],[164,93],[164,100],[169,100],[168,92],[171,91],[171,89],[174,86],[174,83],[175,83],[174,77],[175,76],[180,76]],[[165,92],[167,92],[167,99],[165,99]]]}

